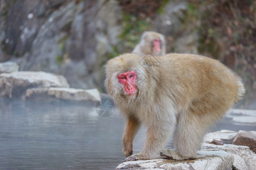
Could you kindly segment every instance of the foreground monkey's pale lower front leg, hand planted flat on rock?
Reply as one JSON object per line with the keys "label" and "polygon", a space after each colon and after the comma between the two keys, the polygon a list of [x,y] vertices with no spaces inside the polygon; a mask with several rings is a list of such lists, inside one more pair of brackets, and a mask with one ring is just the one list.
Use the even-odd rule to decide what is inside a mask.
{"label": "foreground monkey's pale lower front leg, hand planted flat on rock", "polygon": [[162,150],[168,136],[170,135],[170,129],[167,129],[163,129],[160,126],[148,128],[143,150],[138,154],[129,156],[125,161],[160,158],[160,150]]}

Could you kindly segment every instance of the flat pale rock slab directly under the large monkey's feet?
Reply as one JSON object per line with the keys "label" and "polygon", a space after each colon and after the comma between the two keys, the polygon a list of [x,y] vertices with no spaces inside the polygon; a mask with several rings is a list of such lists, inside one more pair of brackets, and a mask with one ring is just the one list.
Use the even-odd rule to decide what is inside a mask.
{"label": "flat pale rock slab directly under the large monkey's feet", "polygon": [[118,169],[231,169],[234,162],[232,154],[225,151],[199,151],[195,160],[137,160],[124,162]]}

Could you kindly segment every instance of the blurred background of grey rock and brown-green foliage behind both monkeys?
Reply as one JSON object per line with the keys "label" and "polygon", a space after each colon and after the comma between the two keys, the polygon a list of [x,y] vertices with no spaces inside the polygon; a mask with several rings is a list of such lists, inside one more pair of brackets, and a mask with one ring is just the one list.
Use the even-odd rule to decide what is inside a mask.
{"label": "blurred background of grey rock and brown-green foliage behind both monkeys", "polygon": [[104,92],[109,58],[144,31],[166,36],[167,53],[202,54],[242,76],[240,108],[256,109],[256,1],[0,0],[0,62],[64,75]]}

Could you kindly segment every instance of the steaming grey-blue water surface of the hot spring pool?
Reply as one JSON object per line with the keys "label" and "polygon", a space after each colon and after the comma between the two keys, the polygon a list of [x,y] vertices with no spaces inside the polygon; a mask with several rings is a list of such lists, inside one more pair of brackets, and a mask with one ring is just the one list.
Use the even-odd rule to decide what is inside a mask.
{"label": "steaming grey-blue water surface of the hot spring pool", "polygon": [[[114,169],[125,159],[124,124],[117,108],[104,118],[95,103],[0,100],[0,169]],[[224,118],[210,131],[255,128]],[[142,149],[145,138],[142,128],[134,152]]]}

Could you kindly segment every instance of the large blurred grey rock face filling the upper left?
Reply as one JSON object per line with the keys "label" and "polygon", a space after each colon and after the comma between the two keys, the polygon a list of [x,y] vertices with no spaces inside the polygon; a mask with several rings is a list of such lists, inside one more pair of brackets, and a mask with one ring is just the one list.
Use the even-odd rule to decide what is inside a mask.
{"label": "large blurred grey rock face filling the upper left", "polygon": [[102,66],[121,41],[117,1],[10,0],[0,9],[0,61],[64,75],[73,88],[103,87]]}

